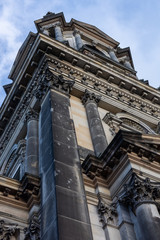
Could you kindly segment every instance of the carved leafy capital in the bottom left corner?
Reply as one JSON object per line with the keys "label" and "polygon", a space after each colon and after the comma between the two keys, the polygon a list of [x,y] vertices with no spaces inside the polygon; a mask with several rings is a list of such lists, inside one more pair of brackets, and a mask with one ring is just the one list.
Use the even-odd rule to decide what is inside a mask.
{"label": "carved leafy capital in the bottom left corner", "polygon": [[0,220],[0,240],[10,240],[19,230],[18,225]]}

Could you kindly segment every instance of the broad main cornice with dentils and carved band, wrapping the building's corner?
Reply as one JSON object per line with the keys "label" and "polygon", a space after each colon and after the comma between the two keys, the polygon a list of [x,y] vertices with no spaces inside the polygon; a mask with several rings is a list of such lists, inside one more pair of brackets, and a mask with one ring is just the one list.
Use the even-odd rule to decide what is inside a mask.
{"label": "broad main cornice with dentils and carved band, wrapping the building's corner", "polygon": [[[39,50],[37,51],[38,48]],[[46,51],[50,54],[46,54]],[[53,52],[56,56],[52,55]],[[104,66],[104,64],[101,64],[94,59],[91,59],[90,57],[62,43],[59,43],[54,39],[51,39],[43,34],[39,34],[35,40],[34,45],[32,46],[32,49],[26,61],[28,62],[26,62],[26,65],[23,65],[19,75],[17,76],[16,81],[12,86],[11,92],[4,101],[4,103],[6,103],[5,108],[3,104],[1,110],[1,133],[2,131],[4,131],[7,123],[9,125],[8,129],[5,129],[4,131],[5,137],[4,135],[1,137],[1,145],[4,142],[3,139],[8,138],[8,134],[14,132],[14,126],[17,124],[17,122],[20,121],[23,116],[23,112],[25,112],[27,106],[29,105],[29,102],[32,98],[33,86],[36,85],[35,83],[39,75],[41,74],[40,68],[43,64],[50,64],[50,69],[54,71],[57,75],[61,74],[67,80],[75,81],[74,89],[77,88],[79,90],[80,87],[82,89],[82,92],[84,92],[86,88],[89,90],[92,89],[95,94],[97,94],[97,92],[100,92],[102,95],[101,102],[113,104],[113,106],[115,107],[119,105],[119,108],[120,106],[123,106],[123,108],[126,108],[126,106],[128,106],[129,109],[132,109],[135,112],[141,112],[142,115],[148,116],[150,119],[153,119],[155,123],[158,123],[157,119],[160,118],[159,106],[155,103],[151,103],[151,101],[147,99],[144,99],[144,97],[140,97],[135,93],[133,94],[132,91],[129,92],[127,89],[123,88],[126,83],[130,84],[131,82],[133,82],[134,84],[138,83],[138,85],[140,87],[143,86],[144,89],[150,89],[150,92],[152,91],[151,87],[145,86],[133,77],[126,76],[124,78],[123,76],[122,78],[122,76],[120,76],[118,72],[116,72],[115,70],[115,72],[112,72],[110,70],[111,66]],[[36,61],[40,61],[38,66],[36,64],[33,64]],[[34,68],[32,68],[34,74],[29,72],[33,76],[30,76],[30,78],[26,81],[23,77],[27,77],[29,75],[27,73],[27,67],[30,65],[35,66]],[[117,75],[114,76],[115,73]],[[119,79],[120,82],[118,83],[118,85],[115,84],[115,79]],[[17,97],[17,88],[23,86],[23,81],[25,81],[28,85],[24,87],[21,93],[22,95],[20,95],[20,97]],[[158,99],[158,91],[154,90],[153,92],[156,93],[156,98]],[[13,100],[13,98],[16,100]],[[13,108],[9,107],[9,104],[11,103],[15,103]],[[11,111],[10,115],[8,115],[9,109]]]}

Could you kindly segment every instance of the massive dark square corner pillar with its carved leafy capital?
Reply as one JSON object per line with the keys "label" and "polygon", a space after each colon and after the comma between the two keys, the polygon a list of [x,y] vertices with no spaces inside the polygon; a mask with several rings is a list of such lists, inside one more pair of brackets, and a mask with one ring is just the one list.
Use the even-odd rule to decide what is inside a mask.
{"label": "massive dark square corner pillar with its carved leafy capital", "polygon": [[74,82],[51,72],[49,79],[51,88],[41,103],[39,124],[41,239],[92,240],[75,129],[70,116],[69,92]]}

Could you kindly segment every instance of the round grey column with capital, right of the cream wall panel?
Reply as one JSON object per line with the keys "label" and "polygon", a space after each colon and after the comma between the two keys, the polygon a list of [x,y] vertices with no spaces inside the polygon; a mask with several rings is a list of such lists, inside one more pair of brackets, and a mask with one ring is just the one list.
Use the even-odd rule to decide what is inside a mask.
{"label": "round grey column with capital, right of the cream wall panel", "polygon": [[99,101],[100,96],[97,96],[96,94],[91,93],[88,90],[85,91],[85,94],[82,98],[82,103],[86,108],[94,151],[97,157],[104,152],[108,145],[98,112],[97,103]]}

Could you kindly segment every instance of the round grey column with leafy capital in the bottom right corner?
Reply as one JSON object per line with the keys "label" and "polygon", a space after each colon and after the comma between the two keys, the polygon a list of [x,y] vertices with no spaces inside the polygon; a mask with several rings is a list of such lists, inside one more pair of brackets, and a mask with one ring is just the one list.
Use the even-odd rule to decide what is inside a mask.
{"label": "round grey column with leafy capital in the bottom right corner", "polygon": [[129,205],[136,215],[138,240],[159,240],[160,215],[155,199],[160,198],[160,184],[151,183],[149,178],[141,179],[133,174],[124,189],[125,193],[119,200]]}

